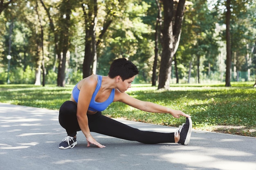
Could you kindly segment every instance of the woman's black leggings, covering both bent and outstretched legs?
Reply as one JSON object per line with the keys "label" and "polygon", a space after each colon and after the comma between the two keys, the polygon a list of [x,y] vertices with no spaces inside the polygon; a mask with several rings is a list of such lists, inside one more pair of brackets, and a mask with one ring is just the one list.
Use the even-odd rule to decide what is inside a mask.
{"label": "woman's black leggings, covering both bent and outstretched legs", "polygon": [[[59,111],[59,122],[61,126],[66,129],[68,136],[74,137],[76,132],[81,130],[76,118],[76,104],[72,101],[66,101],[62,104]],[[144,144],[175,142],[174,133],[141,131],[103,116],[101,112],[97,112],[93,115],[87,114],[87,117],[91,132],[130,141],[138,141]]]}

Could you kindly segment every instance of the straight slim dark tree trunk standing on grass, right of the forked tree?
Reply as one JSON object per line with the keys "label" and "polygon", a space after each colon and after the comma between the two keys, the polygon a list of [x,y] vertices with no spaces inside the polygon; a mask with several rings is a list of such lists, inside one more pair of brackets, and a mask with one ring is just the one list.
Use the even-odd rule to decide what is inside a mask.
{"label": "straight slim dark tree trunk standing on grass, right of the forked tree", "polygon": [[225,79],[225,86],[231,87],[230,84],[230,69],[231,69],[231,42],[230,42],[230,0],[226,2],[227,12],[226,12],[226,42],[227,42],[227,60],[226,60],[226,79]]}

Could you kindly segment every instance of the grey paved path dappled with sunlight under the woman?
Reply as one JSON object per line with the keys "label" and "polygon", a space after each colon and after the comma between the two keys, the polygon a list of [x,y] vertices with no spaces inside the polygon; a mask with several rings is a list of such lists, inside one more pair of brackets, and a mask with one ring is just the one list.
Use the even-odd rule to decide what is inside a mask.
{"label": "grey paved path dappled with sunlight under the woman", "polygon": [[[141,130],[176,128],[119,120]],[[193,119],[192,119],[193,120]],[[106,148],[86,147],[82,132],[72,149],[58,111],[0,103],[1,170],[256,170],[256,138],[193,130],[189,146],[140,144],[92,134]]]}

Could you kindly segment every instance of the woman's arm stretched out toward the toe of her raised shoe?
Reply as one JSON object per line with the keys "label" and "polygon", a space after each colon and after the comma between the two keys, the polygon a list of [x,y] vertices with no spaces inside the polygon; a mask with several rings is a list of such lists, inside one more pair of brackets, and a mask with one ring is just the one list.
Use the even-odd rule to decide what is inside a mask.
{"label": "woman's arm stretched out toward the toe of her raised shoe", "polygon": [[170,113],[171,115],[173,115],[173,117],[176,118],[180,118],[181,116],[184,117],[191,117],[190,115],[187,115],[185,113],[183,113],[180,110],[174,110],[165,106],[161,106],[159,104],[155,104],[152,102],[145,102],[145,101],[141,101],[139,99],[135,99],[133,97],[131,97],[130,95],[126,94],[126,93],[118,93],[117,92],[117,100],[119,102],[123,102],[129,106],[132,106],[134,108],[137,108],[139,110],[143,110],[146,112],[152,112],[152,113]]}

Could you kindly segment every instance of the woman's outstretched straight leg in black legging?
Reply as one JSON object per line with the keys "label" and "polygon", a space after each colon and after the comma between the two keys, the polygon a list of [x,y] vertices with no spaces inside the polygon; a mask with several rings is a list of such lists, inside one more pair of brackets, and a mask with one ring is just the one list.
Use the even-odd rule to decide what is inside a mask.
{"label": "woman's outstretched straight leg in black legging", "polygon": [[139,141],[144,144],[175,142],[174,133],[142,131],[103,116],[101,112],[88,115],[88,121],[91,132],[97,132],[103,135],[130,141]]}

